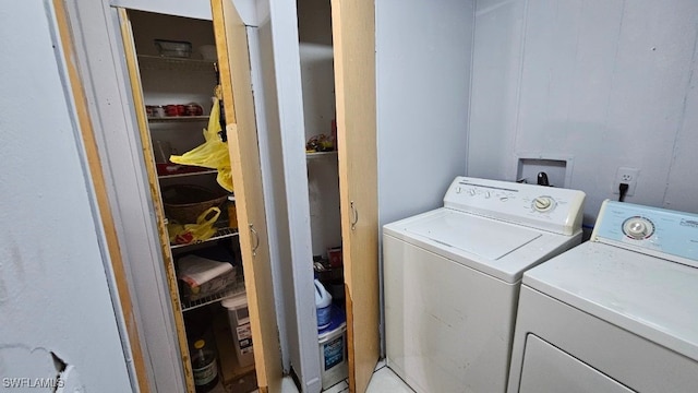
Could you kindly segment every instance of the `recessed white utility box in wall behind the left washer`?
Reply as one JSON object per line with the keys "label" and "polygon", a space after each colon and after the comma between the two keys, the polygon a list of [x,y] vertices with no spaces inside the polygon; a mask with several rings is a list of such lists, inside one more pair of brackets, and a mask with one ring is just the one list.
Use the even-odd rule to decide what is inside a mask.
{"label": "recessed white utility box in wall behind the left washer", "polygon": [[516,180],[530,184],[538,183],[538,174],[545,172],[553,187],[569,188],[571,186],[571,157],[546,154],[518,154]]}

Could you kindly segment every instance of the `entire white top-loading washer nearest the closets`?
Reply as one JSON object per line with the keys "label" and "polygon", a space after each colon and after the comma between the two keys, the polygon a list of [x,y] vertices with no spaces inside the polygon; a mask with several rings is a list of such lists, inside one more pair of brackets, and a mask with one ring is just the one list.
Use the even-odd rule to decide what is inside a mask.
{"label": "entire white top-loading washer nearest the closets", "polygon": [[579,245],[585,193],[456,178],[383,228],[387,365],[417,392],[504,392],[524,271]]}

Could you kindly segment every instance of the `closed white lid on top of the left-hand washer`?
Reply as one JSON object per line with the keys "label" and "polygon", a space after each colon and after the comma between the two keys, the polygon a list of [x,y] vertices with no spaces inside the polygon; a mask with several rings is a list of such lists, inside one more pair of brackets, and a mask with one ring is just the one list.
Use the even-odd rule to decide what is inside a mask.
{"label": "closed white lid on top of the left-hand washer", "polygon": [[493,219],[454,212],[437,211],[405,225],[405,231],[423,236],[441,245],[488,259],[498,260],[540,237],[539,231]]}

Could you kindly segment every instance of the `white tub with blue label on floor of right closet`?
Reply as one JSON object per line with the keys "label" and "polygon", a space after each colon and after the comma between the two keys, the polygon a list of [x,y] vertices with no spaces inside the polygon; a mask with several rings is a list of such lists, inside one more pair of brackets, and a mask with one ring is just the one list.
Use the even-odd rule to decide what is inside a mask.
{"label": "white tub with blue label on floor of right closet", "polygon": [[323,390],[329,389],[348,377],[347,320],[340,308],[337,306],[332,308],[329,325],[317,333]]}

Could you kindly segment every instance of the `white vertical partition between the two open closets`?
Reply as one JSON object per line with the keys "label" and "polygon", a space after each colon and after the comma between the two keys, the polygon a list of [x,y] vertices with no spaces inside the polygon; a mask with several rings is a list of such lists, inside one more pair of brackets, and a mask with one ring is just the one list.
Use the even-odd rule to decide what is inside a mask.
{"label": "white vertical partition between the two open closets", "polygon": [[281,337],[284,366],[290,365],[303,391],[318,392],[320,355],[296,3],[263,0],[257,5],[254,50],[258,58],[252,60],[252,73],[256,73],[253,83],[258,83],[254,91],[277,313],[279,329],[286,333]]}

